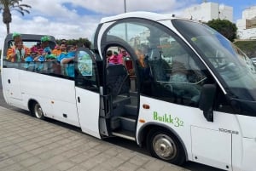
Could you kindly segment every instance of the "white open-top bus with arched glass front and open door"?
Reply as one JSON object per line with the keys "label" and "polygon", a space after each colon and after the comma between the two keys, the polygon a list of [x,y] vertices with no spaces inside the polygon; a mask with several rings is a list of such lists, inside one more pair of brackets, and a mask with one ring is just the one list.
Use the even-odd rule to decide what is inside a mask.
{"label": "white open-top bus with arched glass front and open door", "polygon": [[[255,170],[255,70],[208,26],[148,12],[103,18],[91,50],[79,48],[70,64],[74,77],[56,61],[40,70],[9,62],[9,39],[1,68],[9,105],[99,139],[136,141],[177,165]],[[124,65],[108,64],[108,49],[125,50]]]}

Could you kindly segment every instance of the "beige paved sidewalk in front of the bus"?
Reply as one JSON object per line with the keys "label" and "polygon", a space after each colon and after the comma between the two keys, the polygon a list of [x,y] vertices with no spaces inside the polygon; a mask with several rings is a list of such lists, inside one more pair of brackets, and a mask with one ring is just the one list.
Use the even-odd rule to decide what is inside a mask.
{"label": "beige paved sidewalk in front of the bus", "polygon": [[1,171],[188,171],[0,106]]}

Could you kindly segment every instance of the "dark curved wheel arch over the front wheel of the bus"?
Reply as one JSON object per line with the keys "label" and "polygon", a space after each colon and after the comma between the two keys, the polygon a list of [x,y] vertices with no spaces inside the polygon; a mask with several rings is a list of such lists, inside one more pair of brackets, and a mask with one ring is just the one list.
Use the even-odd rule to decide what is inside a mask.
{"label": "dark curved wheel arch over the front wheel of the bus", "polygon": [[156,128],[165,130],[177,138],[179,143],[183,146],[183,150],[186,155],[186,161],[188,161],[188,158],[189,158],[188,151],[187,151],[186,145],[183,143],[183,140],[180,138],[180,136],[177,134],[177,132],[173,128],[168,127],[165,124],[161,124],[161,123],[146,123],[146,124],[144,124],[143,127],[138,130],[137,144],[140,146],[145,145],[145,141],[147,140],[148,133],[150,132],[150,130],[156,129]]}

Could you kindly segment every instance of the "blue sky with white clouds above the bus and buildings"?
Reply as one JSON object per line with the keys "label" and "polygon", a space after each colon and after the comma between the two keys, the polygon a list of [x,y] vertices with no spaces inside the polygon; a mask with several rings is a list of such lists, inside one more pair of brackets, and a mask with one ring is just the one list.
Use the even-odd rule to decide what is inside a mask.
{"label": "blue sky with white clouds above the bus and buildings", "polygon": [[[32,9],[29,9],[30,14],[22,16],[11,11],[10,32],[52,35],[57,39],[82,37],[91,40],[102,17],[124,13],[124,2],[125,0],[23,0],[22,3],[32,6]],[[212,0],[208,2],[233,7],[234,23],[241,19],[242,10],[256,5],[255,0]],[[126,11],[179,14],[183,9],[200,3],[202,0],[126,0]],[[2,21],[2,13],[0,17]],[[1,22],[1,48],[5,36],[6,26]]]}

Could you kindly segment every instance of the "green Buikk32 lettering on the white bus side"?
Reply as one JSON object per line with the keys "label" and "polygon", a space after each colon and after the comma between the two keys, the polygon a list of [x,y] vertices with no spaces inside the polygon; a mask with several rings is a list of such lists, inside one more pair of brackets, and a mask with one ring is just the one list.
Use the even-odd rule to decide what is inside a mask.
{"label": "green Buikk32 lettering on the white bus side", "polygon": [[171,123],[174,127],[183,127],[183,120],[179,117],[172,117],[172,115],[159,115],[157,111],[153,114],[154,121],[159,121],[162,123]]}

